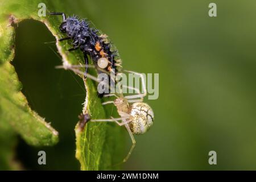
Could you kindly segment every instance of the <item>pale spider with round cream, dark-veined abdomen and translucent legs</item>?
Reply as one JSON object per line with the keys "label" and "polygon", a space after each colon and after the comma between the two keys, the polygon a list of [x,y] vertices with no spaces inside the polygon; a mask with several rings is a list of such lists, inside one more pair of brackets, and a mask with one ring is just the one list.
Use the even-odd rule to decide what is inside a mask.
{"label": "pale spider with round cream, dark-veined abdomen and translucent legs", "polygon": [[[84,65],[64,65],[59,68],[70,69],[78,75],[84,75],[84,72],[80,71],[79,68],[84,67]],[[105,94],[104,97],[115,97],[113,101],[107,101],[102,103],[102,105],[106,104],[114,104],[117,107],[118,114],[120,118],[109,118],[109,119],[90,119],[90,122],[115,122],[119,126],[125,126],[130,138],[133,142],[127,156],[123,159],[123,162],[126,162],[129,159],[131,152],[135,147],[136,141],[133,134],[143,134],[152,126],[154,121],[154,113],[151,107],[143,102],[143,97],[146,96],[146,83],[144,77],[141,73],[125,71],[128,73],[133,73],[141,77],[142,80],[142,90],[143,93],[140,92],[138,88],[133,88],[131,86],[122,85],[123,88],[131,89],[137,92],[137,94],[130,96],[123,96],[123,94],[119,93],[111,93]],[[87,73],[88,78],[95,80],[97,82],[98,79],[92,75]],[[108,83],[109,84],[109,83]],[[121,122],[119,122],[121,121]]]}

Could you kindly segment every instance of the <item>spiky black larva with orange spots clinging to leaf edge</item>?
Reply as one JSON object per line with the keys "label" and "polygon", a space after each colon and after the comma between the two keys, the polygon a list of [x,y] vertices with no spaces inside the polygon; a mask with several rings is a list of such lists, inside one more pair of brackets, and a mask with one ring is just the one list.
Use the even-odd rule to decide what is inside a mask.
{"label": "spiky black larva with orange spots clinging to leaf edge", "polygon": [[[59,41],[72,39],[73,48],[69,51],[81,49],[85,59],[85,75],[88,72],[88,56],[96,65],[107,72],[113,72],[117,67],[121,67],[121,60],[118,59],[118,52],[112,49],[106,35],[98,35],[98,30],[89,27],[89,22],[79,19],[77,16],[66,18],[64,13],[50,13],[51,15],[62,15],[63,22],[60,24],[60,31],[67,34],[66,38]],[[114,69],[113,69],[114,68]]]}

